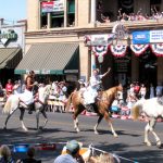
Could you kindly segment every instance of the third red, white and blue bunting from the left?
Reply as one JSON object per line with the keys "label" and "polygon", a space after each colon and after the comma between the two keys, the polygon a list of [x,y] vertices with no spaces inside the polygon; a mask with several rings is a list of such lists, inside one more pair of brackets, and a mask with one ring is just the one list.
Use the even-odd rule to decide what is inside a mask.
{"label": "third red, white and blue bunting from the left", "polygon": [[147,48],[149,47],[149,45],[130,45],[130,49],[131,51],[139,57],[140,54],[142,54]]}

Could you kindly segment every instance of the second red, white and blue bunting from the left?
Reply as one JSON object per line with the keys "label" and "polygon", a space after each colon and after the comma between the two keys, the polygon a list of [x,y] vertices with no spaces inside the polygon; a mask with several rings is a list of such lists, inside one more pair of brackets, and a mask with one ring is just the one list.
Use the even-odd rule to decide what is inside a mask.
{"label": "second red, white and blue bunting from the left", "polygon": [[122,58],[126,54],[127,46],[124,46],[124,45],[113,46],[113,45],[111,45],[110,49],[111,49],[111,52],[114,57]]}

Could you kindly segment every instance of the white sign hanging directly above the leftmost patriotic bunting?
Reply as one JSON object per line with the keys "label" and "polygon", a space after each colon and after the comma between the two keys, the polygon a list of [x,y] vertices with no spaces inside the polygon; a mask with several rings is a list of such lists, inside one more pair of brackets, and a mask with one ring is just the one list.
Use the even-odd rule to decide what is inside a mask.
{"label": "white sign hanging directly above the leftmost patriotic bunting", "polygon": [[86,46],[109,46],[114,38],[113,34],[86,35],[84,42]]}

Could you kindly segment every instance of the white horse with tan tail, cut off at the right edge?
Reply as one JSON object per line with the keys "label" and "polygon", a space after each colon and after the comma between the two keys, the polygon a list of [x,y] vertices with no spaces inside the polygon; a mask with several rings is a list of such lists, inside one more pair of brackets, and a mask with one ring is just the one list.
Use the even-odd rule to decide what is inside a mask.
{"label": "white horse with tan tail, cut off at the right edge", "polygon": [[158,98],[139,100],[135,103],[131,111],[134,120],[137,120],[141,113],[149,118],[148,124],[145,127],[145,143],[147,146],[151,146],[148,137],[149,131],[151,131],[156,140],[156,146],[161,148],[162,143],[159,136],[154,131],[154,126],[159,117],[163,118],[163,104],[158,102]]}

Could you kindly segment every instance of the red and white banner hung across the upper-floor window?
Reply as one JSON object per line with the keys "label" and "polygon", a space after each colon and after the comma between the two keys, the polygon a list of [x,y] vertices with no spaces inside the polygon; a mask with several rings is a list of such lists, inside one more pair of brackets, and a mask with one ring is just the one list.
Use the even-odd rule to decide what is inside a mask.
{"label": "red and white banner hung across the upper-floor window", "polygon": [[63,12],[64,11],[64,0],[54,0],[50,2],[41,2],[41,12]]}

